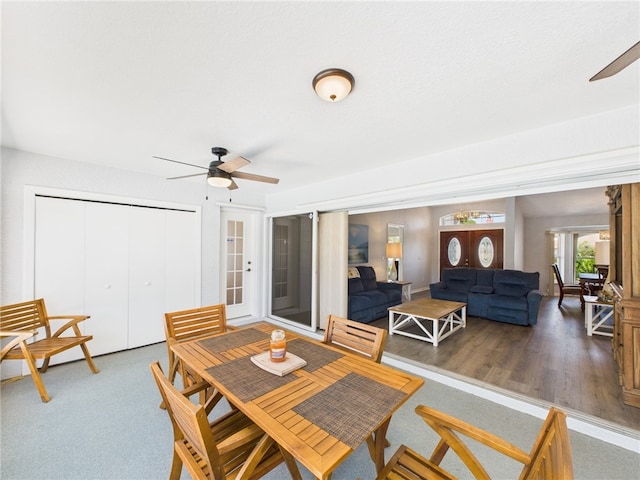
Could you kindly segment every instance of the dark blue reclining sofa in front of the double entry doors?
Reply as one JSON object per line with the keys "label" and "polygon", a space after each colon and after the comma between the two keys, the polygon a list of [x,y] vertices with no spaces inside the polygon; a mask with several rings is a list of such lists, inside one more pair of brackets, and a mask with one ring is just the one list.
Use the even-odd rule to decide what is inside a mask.
{"label": "dark blue reclining sofa in front of the double entry doors", "polygon": [[535,325],[542,301],[540,274],[520,270],[445,268],[430,285],[431,298],[465,302],[467,315]]}

